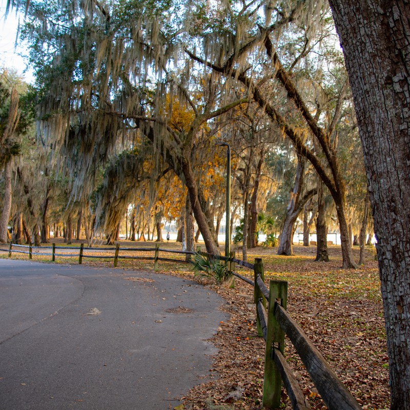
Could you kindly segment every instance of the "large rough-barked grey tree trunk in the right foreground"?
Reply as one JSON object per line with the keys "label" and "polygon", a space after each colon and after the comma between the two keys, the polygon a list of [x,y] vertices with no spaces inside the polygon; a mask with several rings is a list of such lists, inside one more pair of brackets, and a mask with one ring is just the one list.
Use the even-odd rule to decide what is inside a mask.
{"label": "large rough-barked grey tree trunk in the right foreground", "polygon": [[363,146],[377,237],[391,408],[410,408],[408,2],[330,0]]}

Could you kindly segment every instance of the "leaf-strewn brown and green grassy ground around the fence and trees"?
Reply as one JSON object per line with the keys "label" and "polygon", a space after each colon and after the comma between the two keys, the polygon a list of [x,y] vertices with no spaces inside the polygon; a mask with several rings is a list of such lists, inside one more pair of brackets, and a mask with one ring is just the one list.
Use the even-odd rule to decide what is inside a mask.
{"label": "leaf-strewn brown and green grassy ground around the fence and trees", "polygon": [[[152,242],[121,242],[121,248],[154,246]],[[178,250],[180,244],[161,243],[160,248]],[[373,252],[368,250],[363,267],[342,270],[340,247],[332,246],[329,250],[330,262],[314,262],[316,248],[301,246],[294,247],[295,256],[291,257],[277,256],[276,249],[255,248],[248,252],[248,261],[262,258],[267,285],[270,279],[288,281],[288,311],[362,407],[388,408],[388,363],[377,262]],[[128,256],[132,254],[126,252]],[[84,258],[83,264],[112,267],[113,251],[109,253],[111,259]],[[141,254],[154,256],[153,252],[138,253]],[[98,255],[103,252],[98,251]],[[354,255],[358,260],[357,249],[354,249]],[[162,252],[160,256],[184,258],[183,255]],[[7,257],[7,252],[0,253],[0,257]],[[13,257],[26,259],[27,255],[13,254]],[[239,249],[237,258],[241,258]],[[50,259],[50,256],[33,257],[33,260],[41,261]],[[59,256],[56,260],[78,263],[78,257]],[[131,269],[153,269],[153,261],[120,259],[118,269],[125,276],[135,276],[129,272]],[[159,261],[159,269],[161,273],[193,278],[187,264]],[[237,271],[253,278],[253,273],[247,269],[238,267]],[[265,346],[263,339],[256,336],[252,286],[239,279],[236,279],[234,289],[210,282],[205,284],[224,298],[221,309],[230,314],[230,319],[219,324],[212,339],[219,352],[213,358],[211,375],[181,398],[183,408],[260,409]],[[311,408],[325,409],[289,341],[286,342],[285,357]],[[291,408],[285,392],[282,392],[282,407]]]}

